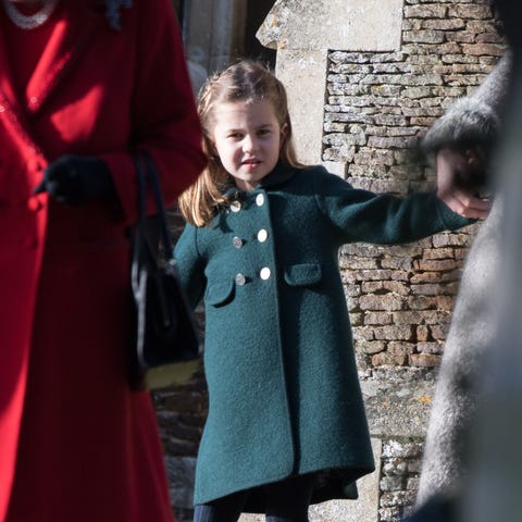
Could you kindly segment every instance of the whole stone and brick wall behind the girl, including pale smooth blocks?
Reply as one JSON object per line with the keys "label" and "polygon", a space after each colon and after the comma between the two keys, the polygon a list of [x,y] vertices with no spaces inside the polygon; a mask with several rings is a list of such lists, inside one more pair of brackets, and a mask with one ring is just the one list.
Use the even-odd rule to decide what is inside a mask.
{"label": "whole stone and brick wall behind the girl, including pale smooth blocks", "polygon": [[[275,3],[266,41],[278,51],[277,71],[288,87],[295,128],[323,126],[319,161],[356,187],[401,196],[432,188],[434,173],[420,160],[419,138],[457,97],[482,82],[504,51],[487,0],[402,0],[402,8],[391,13],[400,20],[390,22],[398,36],[390,37],[389,45],[375,45],[376,50],[371,47],[378,34],[373,39],[365,34],[360,47],[350,40],[340,49],[323,44],[310,49],[307,34],[282,26],[278,16],[284,12],[285,23],[299,24],[288,12],[298,10],[301,20],[313,16],[304,3],[310,11],[364,5],[359,0]],[[330,18],[331,24],[337,22]],[[312,82],[307,64],[314,67],[309,90],[315,100],[318,82],[324,90],[315,123],[307,120],[315,112],[306,101],[299,103],[307,82]],[[309,137],[296,136],[298,150],[299,141]],[[461,268],[477,226],[400,247],[343,248],[340,266],[378,469],[360,487],[368,486],[375,495],[361,495],[357,502],[330,510],[318,508],[311,515],[314,522],[387,522],[408,512]],[[207,408],[204,381],[199,374],[188,385],[154,397],[173,502],[183,521],[190,514],[194,457]]]}

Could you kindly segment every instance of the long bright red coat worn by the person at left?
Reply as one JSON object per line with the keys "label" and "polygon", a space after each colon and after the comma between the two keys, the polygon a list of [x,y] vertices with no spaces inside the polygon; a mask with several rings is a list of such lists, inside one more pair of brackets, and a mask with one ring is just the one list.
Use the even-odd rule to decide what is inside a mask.
{"label": "long bright red coat worn by the person at left", "polygon": [[[0,14],[2,522],[172,520],[150,397],[126,383],[128,150],[148,148],[173,202],[203,166],[201,136],[170,1],[134,0],[120,33],[99,3],[62,2],[24,96]],[[64,153],[104,159],[122,209],[34,196]]]}

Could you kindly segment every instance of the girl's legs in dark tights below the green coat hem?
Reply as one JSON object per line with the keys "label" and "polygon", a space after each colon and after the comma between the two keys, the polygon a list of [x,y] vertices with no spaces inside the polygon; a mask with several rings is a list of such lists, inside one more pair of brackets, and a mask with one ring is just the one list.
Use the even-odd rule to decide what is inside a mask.
{"label": "girl's legs in dark tights below the green coat hem", "polygon": [[[314,475],[302,475],[263,486],[266,496],[266,522],[308,522],[308,507],[315,484]],[[197,505],[194,522],[236,522],[249,490]]]}

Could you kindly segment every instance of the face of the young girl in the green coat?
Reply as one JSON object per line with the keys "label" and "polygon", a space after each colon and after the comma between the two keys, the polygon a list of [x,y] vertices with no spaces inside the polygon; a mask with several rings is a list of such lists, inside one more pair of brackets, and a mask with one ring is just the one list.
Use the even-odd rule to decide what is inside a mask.
{"label": "face of the young girl in the green coat", "polygon": [[214,109],[213,142],[241,190],[252,190],[279,159],[285,129],[268,101],[223,102]]}

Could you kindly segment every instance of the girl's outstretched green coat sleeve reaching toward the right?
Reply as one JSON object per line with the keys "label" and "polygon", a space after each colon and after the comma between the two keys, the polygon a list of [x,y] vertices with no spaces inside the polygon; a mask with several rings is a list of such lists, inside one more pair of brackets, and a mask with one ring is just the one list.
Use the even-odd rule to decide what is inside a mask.
{"label": "girl's outstretched green coat sleeve reaching toward the right", "polygon": [[435,192],[407,198],[377,195],[355,189],[324,169],[315,172],[314,185],[318,204],[339,229],[343,243],[405,244],[474,222],[452,212]]}

